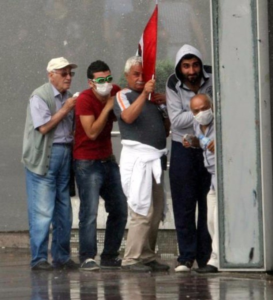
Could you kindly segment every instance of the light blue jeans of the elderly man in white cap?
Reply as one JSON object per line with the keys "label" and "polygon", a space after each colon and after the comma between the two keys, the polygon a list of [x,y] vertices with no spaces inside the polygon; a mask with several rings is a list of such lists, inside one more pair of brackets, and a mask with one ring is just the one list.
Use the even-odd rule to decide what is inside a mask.
{"label": "light blue jeans of the elderly man in white cap", "polygon": [[64,263],[70,257],[72,225],[68,185],[70,153],[70,147],[53,145],[45,176],[25,168],[31,267],[47,260],[50,224],[52,224],[53,264]]}

